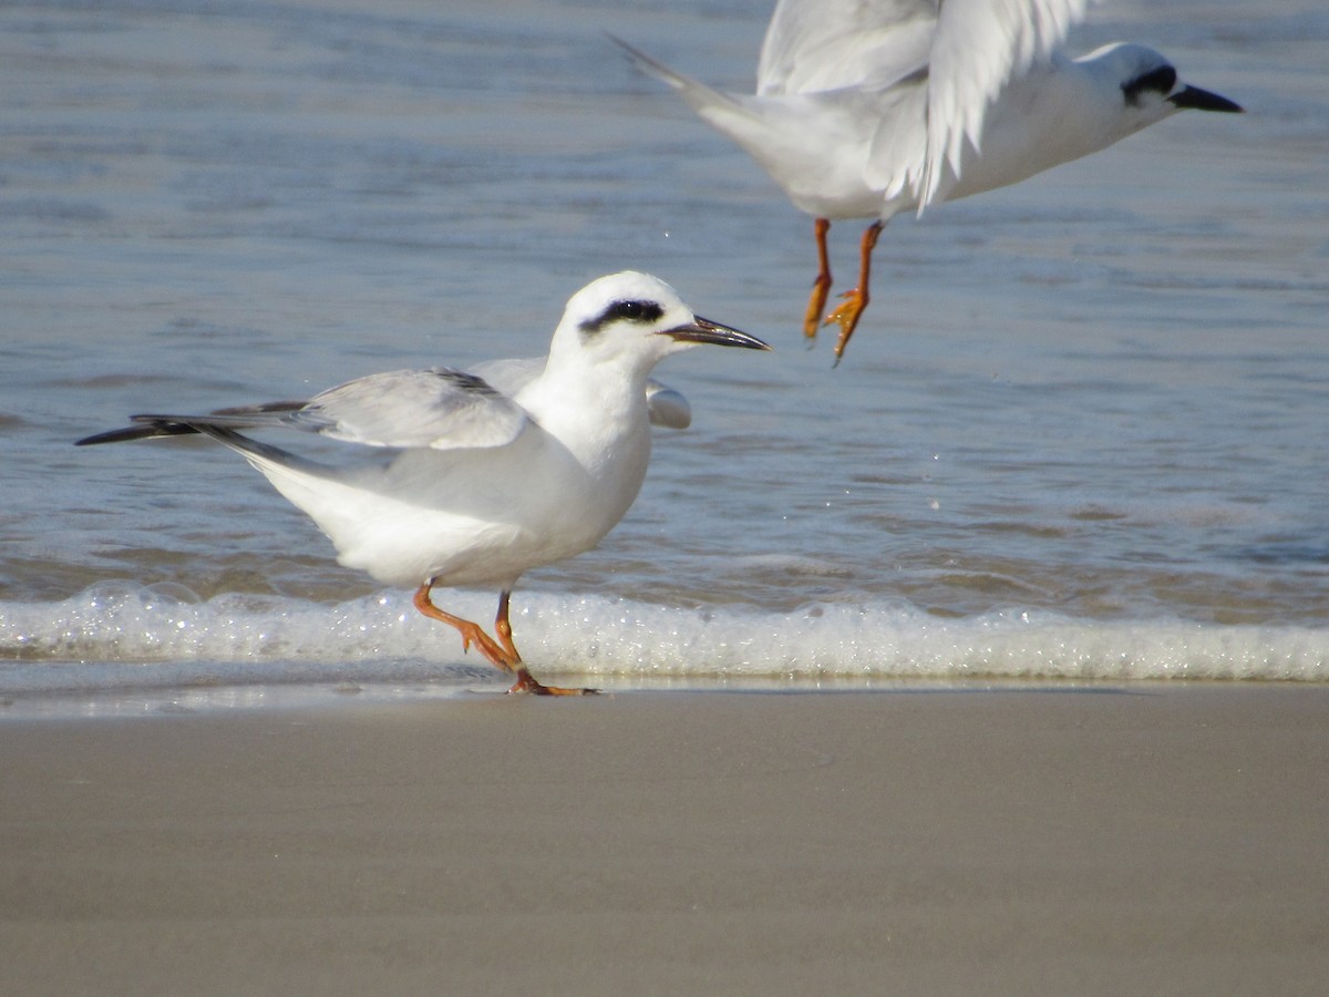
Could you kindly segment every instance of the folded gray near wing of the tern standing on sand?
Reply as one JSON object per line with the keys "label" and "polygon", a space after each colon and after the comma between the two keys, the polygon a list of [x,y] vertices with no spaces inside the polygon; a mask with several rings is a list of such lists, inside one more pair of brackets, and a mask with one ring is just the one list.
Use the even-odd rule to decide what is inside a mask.
{"label": "folded gray near wing of the tern standing on sand", "polygon": [[525,409],[473,374],[435,367],[348,382],[308,401],[225,408],[207,415],[138,415],[134,425],[80,445],[206,429],[287,428],[365,447],[502,447],[529,424]]}

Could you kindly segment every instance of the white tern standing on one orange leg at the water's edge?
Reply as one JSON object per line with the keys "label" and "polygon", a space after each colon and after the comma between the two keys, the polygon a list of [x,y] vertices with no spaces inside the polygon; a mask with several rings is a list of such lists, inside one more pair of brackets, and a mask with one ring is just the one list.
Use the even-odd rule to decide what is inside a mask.
{"label": "white tern standing on one orange leg at the water's edge", "polygon": [[[771,348],[694,315],[663,280],[626,271],[569,299],[544,370],[502,362],[496,380],[516,384],[513,393],[447,367],[392,371],[307,401],[137,415],[77,443],[210,436],[308,514],[342,564],[413,586],[416,609],[516,675],[509,691],[577,695],[593,690],[542,685],[522,663],[508,621],[513,585],[532,568],[590,550],[623,517],[651,451],[647,375],[698,343]],[[336,441],[335,463],[241,432],[268,428]],[[435,585],[489,584],[501,593],[497,639],[429,597]]]}

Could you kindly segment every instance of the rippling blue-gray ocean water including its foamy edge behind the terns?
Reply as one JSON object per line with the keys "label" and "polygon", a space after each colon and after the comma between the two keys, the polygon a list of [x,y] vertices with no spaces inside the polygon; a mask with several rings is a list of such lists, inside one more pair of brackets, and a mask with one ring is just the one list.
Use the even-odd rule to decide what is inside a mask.
{"label": "rippling blue-gray ocean water including its foamy edge behind the terns", "polygon": [[[233,455],[70,444],[536,355],[625,267],[777,352],[657,371],[694,424],[597,550],[517,589],[537,674],[1329,681],[1329,11],[1100,5],[1073,48],[1152,44],[1249,113],[897,219],[833,370],[797,330],[811,222],[603,36],[750,89],[769,4],[657,7],[0,8],[11,713],[501,689]],[[860,230],[832,231],[840,288]]]}

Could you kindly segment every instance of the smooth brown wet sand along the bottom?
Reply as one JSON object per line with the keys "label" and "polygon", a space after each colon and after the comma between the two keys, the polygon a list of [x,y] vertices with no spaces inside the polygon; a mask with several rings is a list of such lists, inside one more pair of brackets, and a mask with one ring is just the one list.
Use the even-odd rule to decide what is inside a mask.
{"label": "smooth brown wet sand along the bottom", "polygon": [[1321,993],[1329,689],[0,722],[5,993]]}

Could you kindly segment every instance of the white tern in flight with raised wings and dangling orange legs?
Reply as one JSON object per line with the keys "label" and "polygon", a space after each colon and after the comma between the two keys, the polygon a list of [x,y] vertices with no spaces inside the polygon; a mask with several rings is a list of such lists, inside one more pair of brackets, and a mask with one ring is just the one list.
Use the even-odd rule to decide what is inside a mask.
{"label": "white tern in flight with raised wings and dangling orange legs", "polygon": [[[1057,52],[1087,0],[780,0],[756,94],[722,93],[613,39],[815,219],[819,270],[803,320],[840,326],[839,363],[868,304],[872,250],[897,213],[1017,183],[1185,108],[1239,112],[1187,86],[1143,45]],[[613,36],[611,36],[613,37]],[[823,319],[831,221],[874,218],[859,286]]]}

